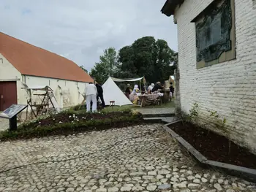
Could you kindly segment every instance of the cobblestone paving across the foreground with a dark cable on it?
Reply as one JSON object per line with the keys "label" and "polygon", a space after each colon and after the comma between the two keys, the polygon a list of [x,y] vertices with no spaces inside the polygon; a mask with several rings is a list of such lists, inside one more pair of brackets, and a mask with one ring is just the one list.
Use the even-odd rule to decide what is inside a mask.
{"label": "cobblestone paving across the foreground with a dark cable on it", "polygon": [[157,124],[1,142],[0,149],[0,191],[255,191],[197,167]]}

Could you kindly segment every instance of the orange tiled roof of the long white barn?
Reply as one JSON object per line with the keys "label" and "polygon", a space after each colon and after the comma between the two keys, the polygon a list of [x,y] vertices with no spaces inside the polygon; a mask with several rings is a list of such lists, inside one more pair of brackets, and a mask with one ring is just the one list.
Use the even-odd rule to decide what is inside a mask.
{"label": "orange tiled roof of the long white barn", "polygon": [[73,61],[1,32],[0,53],[21,74],[79,82],[93,81]]}

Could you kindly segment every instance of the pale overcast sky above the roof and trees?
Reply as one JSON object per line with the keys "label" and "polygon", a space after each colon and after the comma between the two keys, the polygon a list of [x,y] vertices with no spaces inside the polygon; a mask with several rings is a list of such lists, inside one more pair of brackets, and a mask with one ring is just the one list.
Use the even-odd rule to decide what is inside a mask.
{"label": "pale overcast sky above the roof and trees", "polygon": [[50,50],[90,70],[108,47],[165,39],[177,50],[165,0],[0,0],[0,31]]}

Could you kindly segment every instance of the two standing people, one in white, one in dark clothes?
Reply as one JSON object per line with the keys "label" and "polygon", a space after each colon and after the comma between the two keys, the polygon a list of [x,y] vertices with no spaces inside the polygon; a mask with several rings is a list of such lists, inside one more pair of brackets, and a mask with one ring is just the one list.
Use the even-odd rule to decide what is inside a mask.
{"label": "two standing people, one in white, one in dark clothes", "polygon": [[89,82],[89,84],[86,84],[86,88],[83,91],[83,96],[86,99],[87,112],[97,112],[97,101],[99,101],[99,99],[102,102],[102,107],[105,108],[103,88],[98,82]]}

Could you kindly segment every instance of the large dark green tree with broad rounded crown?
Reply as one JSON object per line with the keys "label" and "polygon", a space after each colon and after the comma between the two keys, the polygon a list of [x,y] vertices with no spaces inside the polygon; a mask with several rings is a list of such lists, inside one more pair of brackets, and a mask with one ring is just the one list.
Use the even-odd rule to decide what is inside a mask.
{"label": "large dark green tree with broad rounded crown", "polygon": [[119,50],[118,61],[120,62],[121,77],[145,76],[148,82],[168,80],[173,74],[174,51],[170,49],[163,39],[154,37],[142,37],[132,45]]}

